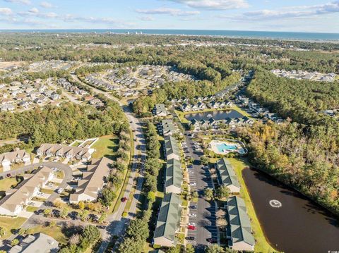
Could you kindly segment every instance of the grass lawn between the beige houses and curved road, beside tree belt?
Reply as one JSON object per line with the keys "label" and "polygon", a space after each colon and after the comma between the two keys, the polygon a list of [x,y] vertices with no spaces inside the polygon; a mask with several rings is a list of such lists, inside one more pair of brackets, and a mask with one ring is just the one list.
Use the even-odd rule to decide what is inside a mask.
{"label": "grass lawn between the beige houses and curved road, beside tree belt", "polygon": [[114,135],[106,135],[99,137],[99,140],[93,144],[91,147],[96,151],[92,154],[93,158],[102,158],[103,156],[107,158],[112,158],[114,152],[117,149],[118,138]]}

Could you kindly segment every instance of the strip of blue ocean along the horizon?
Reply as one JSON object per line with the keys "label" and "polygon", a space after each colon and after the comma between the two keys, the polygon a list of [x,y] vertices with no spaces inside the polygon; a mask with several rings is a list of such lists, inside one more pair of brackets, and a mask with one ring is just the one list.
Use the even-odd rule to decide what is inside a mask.
{"label": "strip of blue ocean along the horizon", "polygon": [[262,32],[236,30],[153,30],[153,29],[88,29],[88,30],[0,30],[0,32],[97,32],[97,33],[143,33],[145,35],[204,35],[222,37],[246,37],[260,39],[339,40],[339,33],[323,32]]}

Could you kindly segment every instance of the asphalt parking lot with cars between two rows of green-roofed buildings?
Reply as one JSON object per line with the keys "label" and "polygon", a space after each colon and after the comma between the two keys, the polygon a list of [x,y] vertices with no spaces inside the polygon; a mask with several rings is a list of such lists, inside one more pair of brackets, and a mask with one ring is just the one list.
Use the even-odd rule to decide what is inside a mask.
{"label": "asphalt parking lot with cars between two rows of green-roofed buildings", "polygon": [[213,182],[208,169],[203,168],[200,164],[200,156],[203,153],[194,150],[194,145],[197,143],[191,140],[188,135],[185,135],[185,137],[186,156],[189,155],[194,159],[193,169],[189,169],[189,180],[190,183],[196,183],[196,185],[191,186],[191,190],[196,190],[199,194],[197,208],[189,211],[190,214],[196,214],[196,217],[189,217],[190,223],[196,223],[196,230],[189,230],[187,236],[195,237],[195,241],[189,243],[196,245],[196,252],[204,252],[206,245],[209,245],[207,241],[209,238],[218,239],[217,227],[215,226],[215,202],[208,202],[203,197],[203,190],[206,187],[213,188]]}

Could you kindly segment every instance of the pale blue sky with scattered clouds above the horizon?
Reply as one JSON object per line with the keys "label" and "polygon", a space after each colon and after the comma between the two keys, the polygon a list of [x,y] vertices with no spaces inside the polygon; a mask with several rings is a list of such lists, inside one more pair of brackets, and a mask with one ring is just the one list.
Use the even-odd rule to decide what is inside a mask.
{"label": "pale blue sky with scattered clouds above the horizon", "polygon": [[339,32],[339,0],[0,0],[0,29]]}

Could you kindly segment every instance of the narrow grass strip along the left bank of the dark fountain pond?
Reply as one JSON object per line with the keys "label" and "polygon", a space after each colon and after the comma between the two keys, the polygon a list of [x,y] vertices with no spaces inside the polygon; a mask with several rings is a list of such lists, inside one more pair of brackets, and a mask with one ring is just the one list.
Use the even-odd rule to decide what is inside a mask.
{"label": "narrow grass strip along the left bank of the dark fountain pond", "polygon": [[261,229],[258,218],[256,217],[256,212],[254,211],[254,206],[251,202],[251,198],[249,197],[249,192],[246,189],[246,185],[244,183],[244,178],[242,178],[242,170],[249,166],[249,162],[246,159],[242,158],[230,158],[235,173],[237,174],[237,178],[241,185],[240,194],[246,203],[247,213],[249,214],[249,218],[251,220],[251,226],[254,233],[254,238],[256,239],[256,246],[254,248],[255,252],[276,252],[273,247],[271,247],[266,240],[265,235],[263,234],[263,230]]}

